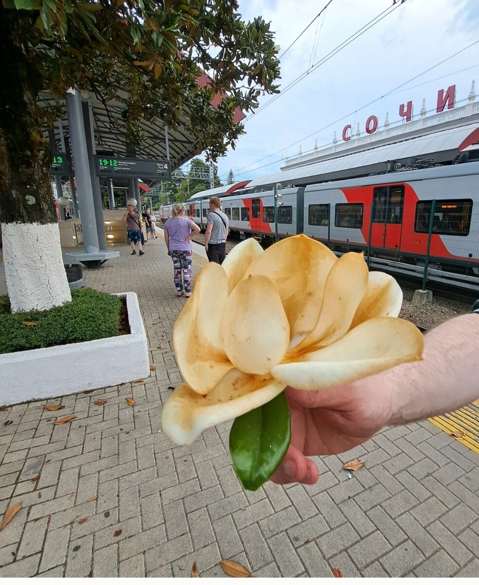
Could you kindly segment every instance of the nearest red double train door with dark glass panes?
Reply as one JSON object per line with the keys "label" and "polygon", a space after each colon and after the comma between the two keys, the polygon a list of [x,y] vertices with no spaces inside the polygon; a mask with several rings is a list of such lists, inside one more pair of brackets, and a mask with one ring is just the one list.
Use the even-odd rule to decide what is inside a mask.
{"label": "nearest red double train door with dark glass panes", "polygon": [[382,248],[401,247],[404,185],[388,185],[373,189],[373,225],[371,245]]}

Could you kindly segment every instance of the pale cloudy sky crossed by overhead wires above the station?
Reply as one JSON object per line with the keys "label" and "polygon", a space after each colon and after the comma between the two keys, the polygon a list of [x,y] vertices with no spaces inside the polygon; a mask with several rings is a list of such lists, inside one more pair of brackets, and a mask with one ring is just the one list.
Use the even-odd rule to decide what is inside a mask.
{"label": "pale cloudy sky crossed by overhead wires above the station", "polygon": [[[239,0],[239,12],[244,20],[263,16],[271,23],[281,56],[326,4],[328,0]],[[383,11],[380,22],[314,67]],[[471,43],[477,44],[462,50]],[[399,106],[408,101],[414,118],[423,98],[433,115],[437,91],[450,85],[456,85],[460,105],[476,79],[479,100],[479,0],[397,0],[394,6],[393,0],[332,0],[280,63],[280,97],[268,105],[271,96],[260,98],[262,109],[243,121],[246,135],[239,137],[236,150],[216,163],[223,183],[230,169],[236,181],[280,171],[284,157],[297,156],[300,146],[304,154],[316,140],[319,149],[329,146],[335,131],[341,141],[346,124],[356,132],[359,123],[364,135],[368,116],[378,117],[381,130],[388,112],[392,126],[401,122]]]}

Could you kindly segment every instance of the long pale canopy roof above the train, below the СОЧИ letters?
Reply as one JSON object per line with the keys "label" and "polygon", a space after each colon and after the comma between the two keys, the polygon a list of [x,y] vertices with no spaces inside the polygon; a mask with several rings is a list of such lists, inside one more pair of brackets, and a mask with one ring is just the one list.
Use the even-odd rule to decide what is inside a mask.
{"label": "long pale canopy roof above the train, below the \u0421\u041e\u0427\u0418 letters", "polygon": [[329,160],[290,168],[253,179],[248,189],[288,185],[299,187],[346,178],[364,177],[369,174],[387,172],[388,161],[408,164],[413,158],[432,158],[437,163],[450,163],[460,152],[471,144],[479,142],[477,122],[461,128],[452,128],[414,137],[401,142],[378,146],[352,154],[343,154]]}

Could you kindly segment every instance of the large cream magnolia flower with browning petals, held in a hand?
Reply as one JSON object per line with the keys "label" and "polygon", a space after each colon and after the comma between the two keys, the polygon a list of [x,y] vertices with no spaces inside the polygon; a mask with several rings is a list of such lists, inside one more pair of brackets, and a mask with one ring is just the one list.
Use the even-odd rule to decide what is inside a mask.
{"label": "large cream magnolia flower with browning petals, held in a hand", "polygon": [[398,319],[394,278],[369,273],[362,253],[336,259],[304,235],[263,251],[247,239],[209,263],[177,318],[184,384],[163,408],[177,444],[280,394],[334,387],[421,359],[421,332]]}

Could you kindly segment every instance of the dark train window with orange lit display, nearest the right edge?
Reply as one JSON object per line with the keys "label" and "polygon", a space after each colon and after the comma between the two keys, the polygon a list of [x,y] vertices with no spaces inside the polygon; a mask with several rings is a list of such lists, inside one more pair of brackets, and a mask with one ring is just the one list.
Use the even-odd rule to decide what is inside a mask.
{"label": "dark train window with orange lit display, nearest the right edge", "polygon": [[[432,201],[418,201],[414,231],[429,233]],[[471,227],[472,199],[436,200],[432,232],[449,236],[467,236]]]}

